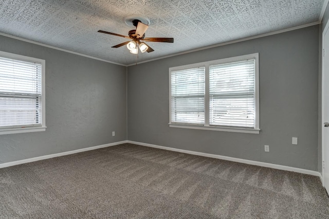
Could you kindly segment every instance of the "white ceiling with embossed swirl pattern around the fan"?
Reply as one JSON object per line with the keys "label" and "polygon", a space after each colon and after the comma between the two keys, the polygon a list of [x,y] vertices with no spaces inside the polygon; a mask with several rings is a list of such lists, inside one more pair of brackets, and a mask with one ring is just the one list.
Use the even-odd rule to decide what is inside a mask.
{"label": "white ceiling with embossed swirl pattern around the fan", "polygon": [[123,19],[150,19],[146,37],[155,50],[138,62],[232,40],[319,22],[324,0],[0,0],[0,32],[107,61],[132,64],[136,55],[119,36],[133,29]]}

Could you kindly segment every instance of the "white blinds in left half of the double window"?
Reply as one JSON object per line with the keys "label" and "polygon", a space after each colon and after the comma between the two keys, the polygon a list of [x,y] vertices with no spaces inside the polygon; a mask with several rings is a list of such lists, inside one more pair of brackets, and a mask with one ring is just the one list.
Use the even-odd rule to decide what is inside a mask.
{"label": "white blinds in left half of the double window", "polygon": [[171,122],[205,122],[205,67],[171,72]]}

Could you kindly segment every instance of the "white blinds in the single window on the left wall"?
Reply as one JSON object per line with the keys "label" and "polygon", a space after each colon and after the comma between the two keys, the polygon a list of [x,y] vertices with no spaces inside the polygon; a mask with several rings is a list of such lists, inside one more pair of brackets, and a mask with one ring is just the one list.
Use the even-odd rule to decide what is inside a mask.
{"label": "white blinds in the single window on the left wall", "polygon": [[0,127],[42,124],[42,65],[0,57]]}

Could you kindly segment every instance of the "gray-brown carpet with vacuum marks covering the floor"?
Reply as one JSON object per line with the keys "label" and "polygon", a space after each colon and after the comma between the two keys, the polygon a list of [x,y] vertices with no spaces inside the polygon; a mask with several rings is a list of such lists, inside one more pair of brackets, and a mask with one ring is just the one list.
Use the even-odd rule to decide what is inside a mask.
{"label": "gray-brown carpet with vacuum marks covering the floor", "polygon": [[319,177],[121,144],[0,169],[0,218],[329,218]]}

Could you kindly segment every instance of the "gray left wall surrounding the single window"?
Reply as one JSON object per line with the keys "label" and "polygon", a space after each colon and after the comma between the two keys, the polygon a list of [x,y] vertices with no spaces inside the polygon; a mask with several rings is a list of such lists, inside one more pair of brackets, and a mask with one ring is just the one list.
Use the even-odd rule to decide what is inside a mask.
{"label": "gray left wall surrounding the single window", "polygon": [[0,163],[126,140],[126,67],[5,36],[0,50],[46,60],[47,126],[0,135]]}

